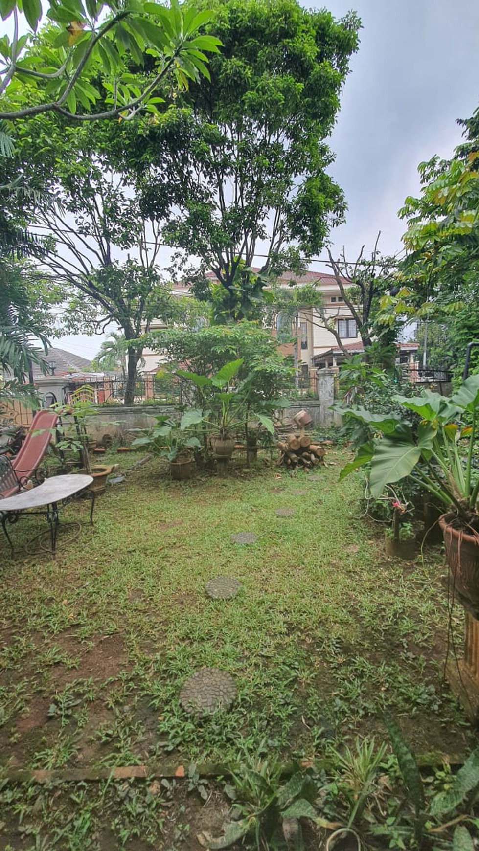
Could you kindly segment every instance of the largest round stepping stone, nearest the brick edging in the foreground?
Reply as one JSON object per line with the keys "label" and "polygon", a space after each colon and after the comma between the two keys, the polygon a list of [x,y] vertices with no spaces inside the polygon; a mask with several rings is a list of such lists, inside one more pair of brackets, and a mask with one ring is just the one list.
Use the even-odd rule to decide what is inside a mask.
{"label": "largest round stepping stone, nearest the brick edging in the foreground", "polygon": [[237,696],[235,681],[219,668],[201,668],[183,684],[180,704],[190,715],[206,715],[229,709]]}

